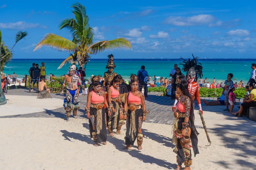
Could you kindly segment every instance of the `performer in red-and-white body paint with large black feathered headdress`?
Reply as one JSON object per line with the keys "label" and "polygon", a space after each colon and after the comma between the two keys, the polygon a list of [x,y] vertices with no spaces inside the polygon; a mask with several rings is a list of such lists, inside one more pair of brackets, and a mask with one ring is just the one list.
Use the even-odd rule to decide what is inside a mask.
{"label": "performer in red-and-white body paint with large black feathered headdress", "polygon": [[[188,80],[188,91],[192,96],[192,99],[195,100],[196,95],[196,101],[198,103],[199,111],[203,113],[202,106],[201,106],[201,99],[199,96],[199,85],[195,82],[197,81],[198,77],[203,77],[203,67],[202,64],[198,62],[198,57],[194,57],[192,54],[193,59],[188,58],[188,60],[185,60],[181,57],[183,60],[182,63],[180,63],[183,67],[182,70],[186,73],[186,77]],[[176,110],[176,103],[177,100],[175,100],[174,105],[172,107],[172,111]]]}

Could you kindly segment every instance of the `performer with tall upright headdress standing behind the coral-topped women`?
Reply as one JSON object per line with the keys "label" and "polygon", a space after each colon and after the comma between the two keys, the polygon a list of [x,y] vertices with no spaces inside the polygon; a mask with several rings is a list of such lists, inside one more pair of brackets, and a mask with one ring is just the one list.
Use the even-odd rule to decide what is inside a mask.
{"label": "performer with tall upright headdress standing behind the coral-topped women", "polygon": [[113,78],[117,75],[115,72],[113,72],[113,69],[116,67],[114,63],[113,54],[108,55],[108,65],[106,68],[108,68],[108,71],[104,73],[104,82],[103,86],[108,89],[108,86],[111,84],[111,81]]}

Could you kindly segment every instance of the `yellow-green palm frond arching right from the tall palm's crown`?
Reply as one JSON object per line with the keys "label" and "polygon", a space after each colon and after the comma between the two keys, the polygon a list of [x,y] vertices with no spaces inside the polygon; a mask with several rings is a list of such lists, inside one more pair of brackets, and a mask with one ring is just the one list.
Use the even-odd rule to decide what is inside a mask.
{"label": "yellow-green palm frond arching right from the tall palm's crown", "polygon": [[118,38],[109,41],[100,41],[89,46],[92,54],[100,53],[105,50],[113,50],[113,49],[132,49],[131,42],[125,38]]}

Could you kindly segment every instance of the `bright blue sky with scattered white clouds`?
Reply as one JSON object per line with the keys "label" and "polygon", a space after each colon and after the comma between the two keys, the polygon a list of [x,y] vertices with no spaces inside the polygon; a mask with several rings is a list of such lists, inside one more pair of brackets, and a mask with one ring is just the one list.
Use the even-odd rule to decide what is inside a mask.
{"label": "bright blue sky with scattered white clouds", "polygon": [[[69,53],[43,47],[33,52],[46,33],[71,40],[59,30],[61,20],[74,18],[76,1],[1,1],[0,29],[6,45],[17,31],[28,36],[13,49],[13,58],[66,58]],[[92,55],[106,58],[253,58],[256,49],[255,1],[79,1],[94,28],[94,42],[125,37],[133,50]]]}

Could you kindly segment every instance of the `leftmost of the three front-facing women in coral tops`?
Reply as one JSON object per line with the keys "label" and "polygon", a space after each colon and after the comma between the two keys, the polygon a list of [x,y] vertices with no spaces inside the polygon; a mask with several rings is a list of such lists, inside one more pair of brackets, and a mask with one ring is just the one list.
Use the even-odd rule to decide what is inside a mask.
{"label": "leftmost of the three front-facing women in coral tops", "polygon": [[[104,104],[106,108],[108,108],[108,102],[99,81],[94,81],[92,88],[93,90],[89,92],[87,96],[87,104],[85,107],[85,112],[89,118],[90,135],[91,138],[93,138],[94,146],[98,146],[99,143],[106,145],[107,117],[105,114]],[[108,108],[107,111],[108,116],[110,116],[110,108]]]}

